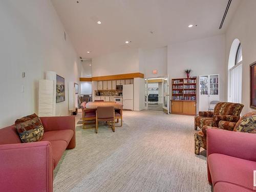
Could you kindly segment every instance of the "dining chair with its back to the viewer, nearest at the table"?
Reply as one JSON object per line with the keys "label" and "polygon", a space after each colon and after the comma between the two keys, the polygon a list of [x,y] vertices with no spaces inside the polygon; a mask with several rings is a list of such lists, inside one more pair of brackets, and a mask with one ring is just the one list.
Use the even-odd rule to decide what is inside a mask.
{"label": "dining chair with its back to the viewer, nearest at the table", "polygon": [[112,131],[115,132],[115,110],[114,106],[98,106],[96,111],[95,133],[98,133],[98,122],[111,122]]}

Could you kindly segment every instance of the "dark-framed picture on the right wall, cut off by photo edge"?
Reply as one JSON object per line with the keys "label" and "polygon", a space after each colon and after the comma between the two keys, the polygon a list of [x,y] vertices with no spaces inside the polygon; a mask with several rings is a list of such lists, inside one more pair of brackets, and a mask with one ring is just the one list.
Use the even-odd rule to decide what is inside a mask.
{"label": "dark-framed picture on the right wall, cut off by photo edge", "polygon": [[250,108],[256,109],[256,62],[250,65]]}

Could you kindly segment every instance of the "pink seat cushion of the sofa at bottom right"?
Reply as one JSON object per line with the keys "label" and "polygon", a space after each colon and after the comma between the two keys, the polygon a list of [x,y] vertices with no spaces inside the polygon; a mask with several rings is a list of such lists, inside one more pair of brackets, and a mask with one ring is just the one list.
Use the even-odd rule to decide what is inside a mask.
{"label": "pink seat cushion of the sofa at bottom right", "polygon": [[210,154],[207,161],[214,187],[217,182],[224,181],[248,189],[253,188],[253,170],[256,170],[255,161],[222,154]]}

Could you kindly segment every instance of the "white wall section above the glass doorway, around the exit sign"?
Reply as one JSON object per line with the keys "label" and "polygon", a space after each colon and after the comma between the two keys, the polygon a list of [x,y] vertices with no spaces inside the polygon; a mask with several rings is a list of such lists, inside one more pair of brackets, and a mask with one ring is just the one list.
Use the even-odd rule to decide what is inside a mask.
{"label": "white wall section above the glass doorway, around the exit sign", "polygon": [[[140,49],[139,60],[145,78],[167,75],[167,47]],[[157,70],[157,74],[153,74],[153,70]]]}

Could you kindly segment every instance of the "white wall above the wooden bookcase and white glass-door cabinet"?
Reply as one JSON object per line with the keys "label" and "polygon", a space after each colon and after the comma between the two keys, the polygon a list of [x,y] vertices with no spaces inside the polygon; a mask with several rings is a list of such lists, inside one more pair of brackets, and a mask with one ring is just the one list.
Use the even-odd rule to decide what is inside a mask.
{"label": "white wall above the wooden bookcase and white glass-door cabinet", "polygon": [[193,71],[190,76],[220,74],[220,100],[226,100],[225,35],[168,45],[167,62],[170,80],[185,77],[185,69]]}

